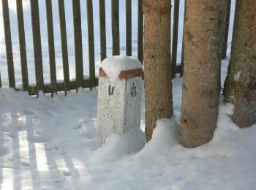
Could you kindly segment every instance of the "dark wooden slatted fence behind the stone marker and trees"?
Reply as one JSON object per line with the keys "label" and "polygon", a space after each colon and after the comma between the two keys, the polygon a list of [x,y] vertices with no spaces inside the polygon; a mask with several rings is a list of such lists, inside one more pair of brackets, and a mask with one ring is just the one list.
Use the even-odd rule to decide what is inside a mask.
{"label": "dark wooden slatted fence behind the stone marker and trees", "polygon": [[[132,0],[126,0],[126,54],[132,56]],[[27,58],[26,58],[26,41],[24,32],[23,20],[23,2],[16,0],[17,5],[17,20],[18,20],[18,37],[20,45],[20,63],[23,91],[29,91],[30,95],[38,94],[38,91],[43,93],[57,93],[58,91],[67,91],[83,88],[93,88],[97,86],[98,78],[95,76],[95,61],[94,61],[94,18],[92,0],[86,0],[87,4],[87,23],[88,23],[88,41],[89,41],[89,79],[83,78],[83,45],[81,31],[81,13],[80,0],[72,0],[73,23],[74,23],[74,42],[75,42],[75,80],[69,80],[69,58],[67,52],[67,29],[65,19],[64,0],[58,0],[59,3],[59,20],[61,30],[61,51],[63,60],[64,82],[57,83],[56,81],[56,60],[55,46],[53,35],[53,9],[52,1],[45,0],[47,12],[47,30],[48,30],[48,50],[50,62],[50,83],[44,83],[43,63],[42,63],[42,45],[39,27],[39,6],[38,0],[30,0],[31,4],[31,23],[34,45],[34,66],[36,85],[29,85]],[[113,55],[120,53],[120,35],[119,35],[119,0],[111,0],[111,20],[112,20],[112,45]],[[10,30],[10,15],[8,0],[2,0],[3,18],[4,18],[4,38],[7,53],[7,70],[10,88],[15,88],[15,72],[12,56],[12,37]],[[138,0],[138,59],[143,62],[143,0]],[[173,18],[173,44],[172,44],[172,68],[173,77],[180,72],[182,75],[182,65],[177,66],[177,44],[178,44],[178,14],[179,0],[174,1],[174,18]],[[230,17],[230,0],[227,0],[227,14],[225,27],[225,47],[227,47],[227,32]],[[100,58],[101,61],[106,58],[106,25],[105,25],[105,0],[99,0],[99,34],[100,34]],[[226,48],[223,48],[223,57],[226,55]],[[1,87],[1,73],[0,73]]]}

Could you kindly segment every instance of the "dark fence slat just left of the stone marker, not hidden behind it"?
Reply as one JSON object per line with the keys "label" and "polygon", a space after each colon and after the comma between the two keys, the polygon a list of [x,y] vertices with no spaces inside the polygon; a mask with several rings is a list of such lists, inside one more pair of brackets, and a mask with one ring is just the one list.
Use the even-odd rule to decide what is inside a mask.
{"label": "dark fence slat just left of the stone marker, not hidden behind it", "polygon": [[94,16],[92,0],[87,0],[87,23],[89,42],[89,80],[90,88],[96,86],[95,81],[95,60],[94,60]]}

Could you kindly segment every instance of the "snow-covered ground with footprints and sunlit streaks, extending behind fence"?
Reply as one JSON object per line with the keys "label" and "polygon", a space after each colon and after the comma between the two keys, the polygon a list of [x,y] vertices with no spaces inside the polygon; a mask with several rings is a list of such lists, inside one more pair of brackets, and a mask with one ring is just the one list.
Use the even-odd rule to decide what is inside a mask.
{"label": "snow-covered ground with footprints and sunlit streaks, extending behind fence", "polygon": [[[85,1],[81,2],[84,13]],[[67,12],[71,14],[71,1],[65,3]],[[94,6],[97,6],[97,3],[98,1],[94,1]],[[132,3],[136,4],[136,1]],[[25,20],[28,22],[26,37],[28,37],[29,72],[32,73],[34,62],[31,41],[29,41],[31,31],[28,29],[31,28],[29,1],[23,0],[23,4]],[[44,1],[39,1],[39,4],[43,12]],[[56,7],[54,4],[57,4],[56,1],[53,1],[53,7]],[[181,1],[181,10],[183,4],[184,1]],[[121,5],[122,10],[124,10],[123,5]],[[109,0],[106,1],[106,6],[110,7]],[[10,0],[10,7],[11,20],[14,20],[15,1]],[[233,15],[233,7],[234,1],[232,1],[231,15]],[[133,11],[136,12],[136,7]],[[94,14],[97,17],[97,11]],[[58,24],[56,15],[58,13],[53,13]],[[110,15],[109,8],[107,15]],[[42,20],[45,19],[42,17]],[[69,53],[72,60],[72,18],[67,17],[67,20],[69,20],[67,21],[70,37]],[[86,22],[86,18],[82,20]],[[181,17],[180,23],[182,20]],[[233,18],[230,28],[233,27],[232,22]],[[107,23],[110,23],[109,19]],[[44,21],[42,25],[45,25]],[[12,27],[16,26],[17,23],[12,22]],[[83,27],[86,25],[83,24]],[[97,33],[98,26],[95,27]],[[180,26],[180,36],[181,29],[182,26]],[[83,31],[85,35],[86,28]],[[15,29],[12,32],[15,32]],[[55,32],[58,38],[59,31],[55,30]],[[110,30],[107,30],[107,34],[108,37],[111,36]],[[121,34],[124,35],[124,32]],[[132,35],[136,37],[136,30]],[[15,39],[15,34],[12,36],[15,71],[17,71],[16,82],[18,82],[20,80],[17,69],[20,64],[18,38]],[[96,34],[96,37],[98,36]],[[46,37],[45,26],[42,26],[43,43],[47,42]],[[84,40],[86,39],[85,35]],[[57,64],[59,62],[61,67],[58,42],[56,40],[56,49],[59,48],[59,51],[56,50],[56,55],[59,56]],[[124,45],[124,42],[125,38],[121,36],[121,44]],[[180,52],[181,41],[178,45]],[[47,68],[47,44],[44,47],[44,66]],[[108,55],[110,50],[111,47],[108,47]],[[136,52],[135,47],[133,50]],[[7,74],[4,52],[4,38],[1,32],[0,69],[4,85],[7,85],[7,77],[4,77]],[[229,58],[228,56],[222,61],[222,84]],[[70,63],[71,68],[73,62]],[[60,68],[59,70],[61,71]],[[45,73],[49,72],[45,71]],[[33,82],[33,75],[29,76],[30,82]],[[47,75],[45,77],[47,78]],[[80,89],[78,94],[71,93],[64,96],[59,93],[53,98],[46,95],[37,99],[28,96],[26,92],[0,88],[0,189],[256,189],[256,124],[246,129],[239,129],[229,117],[233,113],[233,105],[224,104],[221,95],[219,119],[213,140],[198,148],[182,147],[178,143],[176,123],[180,115],[181,83],[181,78],[173,80],[173,109],[176,118],[157,121],[157,128],[150,142],[146,143],[143,132],[145,108],[144,96],[142,96],[141,130],[133,130],[123,136],[113,134],[99,149],[95,148],[97,89],[93,91]]]}

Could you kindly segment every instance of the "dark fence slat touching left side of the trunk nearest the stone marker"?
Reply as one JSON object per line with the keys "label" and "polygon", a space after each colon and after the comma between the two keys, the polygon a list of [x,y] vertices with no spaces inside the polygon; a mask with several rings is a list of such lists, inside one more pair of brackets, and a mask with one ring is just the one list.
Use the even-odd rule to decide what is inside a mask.
{"label": "dark fence slat touching left side of the trunk nearest the stone marker", "polygon": [[138,0],[138,60],[143,63],[143,0]]}

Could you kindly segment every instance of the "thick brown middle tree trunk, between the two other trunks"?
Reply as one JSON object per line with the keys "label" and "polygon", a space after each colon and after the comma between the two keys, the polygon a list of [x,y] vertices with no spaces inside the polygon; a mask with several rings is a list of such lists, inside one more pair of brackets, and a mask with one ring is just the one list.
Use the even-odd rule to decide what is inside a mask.
{"label": "thick brown middle tree trunk, between the two other trunks", "polygon": [[184,80],[179,137],[193,148],[211,140],[217,126],[224,0],[187,0]]}

